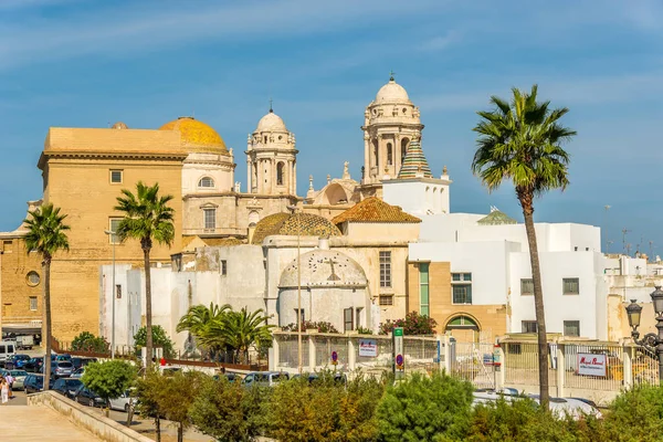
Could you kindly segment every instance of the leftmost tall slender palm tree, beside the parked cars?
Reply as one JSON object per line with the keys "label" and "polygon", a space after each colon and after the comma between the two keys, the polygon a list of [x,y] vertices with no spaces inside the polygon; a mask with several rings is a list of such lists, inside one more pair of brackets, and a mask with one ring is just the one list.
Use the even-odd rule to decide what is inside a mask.
{"label": "leftmost tall slender palm tree, beside the parked cars", "polygon": [[44,313],[45,313],[45,341],[46,357],[44,358],[44,390],[50,387],[51,377],[51,262],[53,255],[61,250],[69,251],[69,240],[66,230],[70,227],[64,224],[66,214],[60,214],[60,208],[53,204],[44,204],[33,211],[28,212],[30,218],[23,220],[28,228],[25,235],[25,250],[28,253],[35,251],[42,257],[42,267],[44,271]]}

